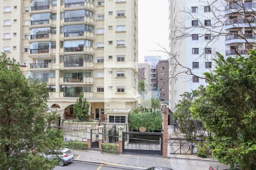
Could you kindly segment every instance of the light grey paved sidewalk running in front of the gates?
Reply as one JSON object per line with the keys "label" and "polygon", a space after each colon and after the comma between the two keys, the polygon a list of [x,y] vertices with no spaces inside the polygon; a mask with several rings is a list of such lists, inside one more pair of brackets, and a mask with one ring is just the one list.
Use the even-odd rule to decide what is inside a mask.
{"label": "light grey paved sidewalk running in front of the gates", "polygon": [[199,159],[184,159],[184,158],[162,158],[160,156],[150,155],[133,155],[133,154],[102,154],[100,151],[77,151],[74,150],[73,154],[79,155],[74,160],[92,163],[107,163],[127,165],[130,167],[139,167],[146,169],[149,167],[170,167],[172,169],[208,169],[209,166],[218,167],[219,169],[227,168],[217,162],[199,160]]}

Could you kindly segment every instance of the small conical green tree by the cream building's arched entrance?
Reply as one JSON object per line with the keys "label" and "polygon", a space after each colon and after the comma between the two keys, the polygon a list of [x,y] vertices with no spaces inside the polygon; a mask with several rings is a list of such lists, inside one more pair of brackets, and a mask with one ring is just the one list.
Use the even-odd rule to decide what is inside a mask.
{"label": "small conical green tree by the cream building's arched entrance", "polygon": [[86,121],[90,117],[89,108],[90,104],[86,101],[86,99],[82,98],[82,93],[79,95],[79,98],[76,100],[74,104],[75,116],[79,118],[80,121]]}

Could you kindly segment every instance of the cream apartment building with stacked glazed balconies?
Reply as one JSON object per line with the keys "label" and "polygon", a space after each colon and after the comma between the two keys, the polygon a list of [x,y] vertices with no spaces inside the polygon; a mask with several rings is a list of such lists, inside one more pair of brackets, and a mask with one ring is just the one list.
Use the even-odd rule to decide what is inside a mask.
{"label": "cream apartment building with stacked glazed balconies", "polygon": [[137,0],[0,1],[0,52],[31,82],[47,82],[49,108],[73,116],[79,94],[91,118],[123,123],[138,95]]}

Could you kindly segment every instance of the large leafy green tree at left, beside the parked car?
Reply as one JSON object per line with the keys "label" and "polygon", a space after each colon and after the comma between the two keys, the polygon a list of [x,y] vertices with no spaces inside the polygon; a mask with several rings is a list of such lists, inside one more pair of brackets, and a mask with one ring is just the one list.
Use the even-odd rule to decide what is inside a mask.
{"label": "large leafy green tree at left, beside the parked car", "polygon": [[53,154],[63,146],[61,131],[52,128],[55,113],[47,113],[45,83],[30,83],[20,66],[0,55],[0,169],[52,169]]}

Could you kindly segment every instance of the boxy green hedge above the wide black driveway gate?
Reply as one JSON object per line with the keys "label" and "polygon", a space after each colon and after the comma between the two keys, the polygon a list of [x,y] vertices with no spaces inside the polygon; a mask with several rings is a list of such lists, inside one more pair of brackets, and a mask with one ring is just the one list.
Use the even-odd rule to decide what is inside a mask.
{"label": "boxy green hedge above the wide black driveway gate", "polygon": [[150,112],[130,112],[128,116],[130,130],[139,130],[145,127],[146,131],[159,131],[162,130],[162,114]]}

